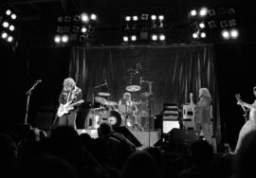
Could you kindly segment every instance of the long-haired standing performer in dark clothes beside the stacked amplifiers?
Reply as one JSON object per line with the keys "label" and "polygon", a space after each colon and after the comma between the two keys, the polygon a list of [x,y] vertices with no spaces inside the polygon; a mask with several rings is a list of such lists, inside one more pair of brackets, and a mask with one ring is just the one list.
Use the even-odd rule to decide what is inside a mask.
{"label": "long-haired standing performer in dark clothes beside the stacked amplifiers", "polygon": [[194,108],[194,123],[196,131],[203,131],[205,139],[213,146],[211,137],[211,118],[210,118],[210,104],[211,97],[208,88],[199,89],[199,100],[194,104],[192,100],[192,93],[190,94],[191,105]]}

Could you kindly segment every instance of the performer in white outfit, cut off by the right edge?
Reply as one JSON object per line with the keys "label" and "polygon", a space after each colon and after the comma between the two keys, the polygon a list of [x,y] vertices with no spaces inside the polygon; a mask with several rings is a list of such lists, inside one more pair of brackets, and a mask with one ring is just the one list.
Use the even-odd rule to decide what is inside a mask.
{"label": "performer in white outfit, cut off by the right edge", "polygon": [[[256,86],[253,87],[253,95],[256,98]],[[254,102],[252,104],[248,104],[248,103],[244,102],[242,99],[238,99],[237,104],[249,109],[249,116],[248,116],[247,122],[244,124],[244,126],[240,130],[236,148],[235,148],[235,152],[237,152],[239,150],[242,140],[245,137],[245,135],[251,131],[256,130],[256,99],[254,100]]]}

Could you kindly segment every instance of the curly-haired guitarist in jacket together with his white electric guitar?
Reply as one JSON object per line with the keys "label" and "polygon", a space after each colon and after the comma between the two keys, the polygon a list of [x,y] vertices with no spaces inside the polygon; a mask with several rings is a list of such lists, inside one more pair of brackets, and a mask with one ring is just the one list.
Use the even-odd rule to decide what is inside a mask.
{"label": "curly-haired guitarist in jacket together with his white electric guitar", "polygon": [[59,126],[71,126],[76,129],[76,116],[79,106],[83,102],[82,90],[76,86],[72,78],[64,79],[64,88],[59,96],[60,107],[57,116],[59,116]]}

